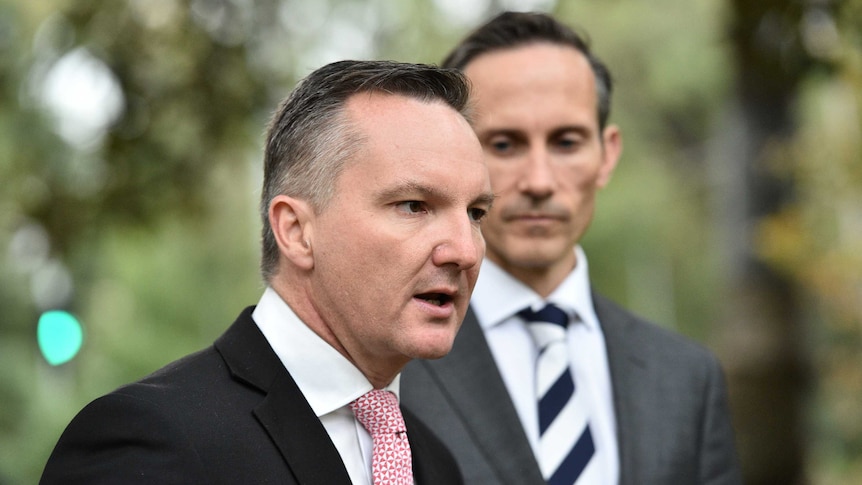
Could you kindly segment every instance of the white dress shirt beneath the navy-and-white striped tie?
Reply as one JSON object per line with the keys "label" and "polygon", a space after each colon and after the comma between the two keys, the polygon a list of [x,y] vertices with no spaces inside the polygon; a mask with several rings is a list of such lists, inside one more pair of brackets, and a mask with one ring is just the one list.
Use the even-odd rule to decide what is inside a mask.
{"label": "white dress shirt beneath the navy-and-white striped tie", "polygon": [[547,300],[486,259],[482,262],[470,304],[537,456],[539,424],[535,375],[538,352],[527,324],[516,314],[528,306],[537,310],[546,303],[554,303],[580,316],[581,321],[570,325],[567,335],[569,362],[576,392],[585,393],[596,454],[578,484],[617,483],[619,455],[605,338],[593,308],[587,257],[580,246],[575,247],[575,254],[575,269]]}

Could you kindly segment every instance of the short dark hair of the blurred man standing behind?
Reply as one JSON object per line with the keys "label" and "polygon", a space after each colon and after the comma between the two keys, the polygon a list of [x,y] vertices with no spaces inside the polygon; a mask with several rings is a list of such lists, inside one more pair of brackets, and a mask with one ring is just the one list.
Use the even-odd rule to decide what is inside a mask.
{"label": "short dark hair of the blurred man standing behind", "polygon": [[443,61],[443,67],[464,70],[473,59],[489,52],[547,42],[578,50],[593,69],[598,97],[599,128],[607,126],[611,113],[613,80],[607,66],[591,51],[586,35],[544,13],[503,12],[462,40]]}

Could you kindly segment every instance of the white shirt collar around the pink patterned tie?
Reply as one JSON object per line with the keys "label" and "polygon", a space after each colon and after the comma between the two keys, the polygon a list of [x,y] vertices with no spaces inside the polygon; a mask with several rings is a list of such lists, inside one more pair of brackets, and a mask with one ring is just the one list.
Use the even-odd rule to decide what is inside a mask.
{"label": "white shirt collar around the pink patterned tie", "polygon": [[[252,318],[317,416],[373,389],[365,375],[308,328],[271,287],[264,291]],[[386,390],[399,396],[400,378],[399,374]]]}

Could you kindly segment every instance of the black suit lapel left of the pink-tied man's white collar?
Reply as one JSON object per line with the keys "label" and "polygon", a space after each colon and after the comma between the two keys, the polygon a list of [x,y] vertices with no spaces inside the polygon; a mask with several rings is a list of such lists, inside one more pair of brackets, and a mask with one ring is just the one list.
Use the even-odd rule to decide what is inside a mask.
{"label": "black suit lapel left of the pink-tied man's white collar", "polygon": [[231,375],[265,396],[254,412],[300,484],[349,484],[341,456],[247,308],[215,343]]}

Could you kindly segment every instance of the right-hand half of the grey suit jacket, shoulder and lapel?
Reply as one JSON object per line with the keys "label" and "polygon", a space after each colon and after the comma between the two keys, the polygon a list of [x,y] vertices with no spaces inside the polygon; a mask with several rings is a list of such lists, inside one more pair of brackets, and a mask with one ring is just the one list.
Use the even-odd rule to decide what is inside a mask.
{"label": "right-hand half of the grey suit jacket, shoulder and lapel", "polygon": [[[663,480],[640,475],[650,473],[646,467],[630,467],[630,479],[692,483],[700,476],[739,483],[727,387],[715,355],[606,298],[593,299],[605,336],[616,417],[624,430],[623,460],[646,464],[662,455],[676,463],[664,469]],[[650,436],[666,439],[644,441]]]}

